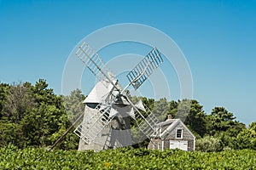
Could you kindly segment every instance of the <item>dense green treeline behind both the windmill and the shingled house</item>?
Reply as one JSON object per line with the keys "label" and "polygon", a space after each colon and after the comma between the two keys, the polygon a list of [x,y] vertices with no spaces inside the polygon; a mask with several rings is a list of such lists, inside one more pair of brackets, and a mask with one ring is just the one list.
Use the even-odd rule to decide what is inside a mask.
{"label": "dense green treeline behind both the windmill and the shingled house", "polygon": [[[0,83],[0,147],[9,144],[19,148],[45,147],[53,144],[83,113],[84,98],[80,90],[73,91],[69,96],[56,95],[43,79],[35,85],[30,82]],[[256,122],[246,127],[224,107],[215,107],[207,114],[195,99],[154,101],[133,98],[135,101],[138,99],[142,99],[161,120],[166,115],[182,119],[197,137],[196,150],[256,150]],[[68,133],[57,147],[76,149],[78,144],[79,138],[74,133]]]}

